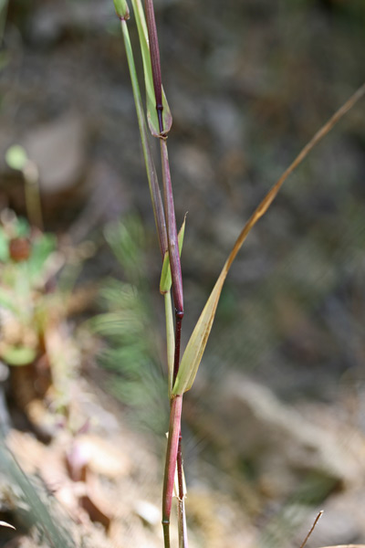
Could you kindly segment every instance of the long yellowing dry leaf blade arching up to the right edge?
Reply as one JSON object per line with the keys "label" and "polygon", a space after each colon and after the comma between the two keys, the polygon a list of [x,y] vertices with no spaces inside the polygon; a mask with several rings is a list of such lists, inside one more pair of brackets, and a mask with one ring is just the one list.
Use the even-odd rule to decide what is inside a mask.
{"label": "long yellowing dry leaf blade arching up to the right edge", "polygon": [[189,390],[195,379],[198,367],[201,363],[203,352],[205,350],[206,342],[208,341],[209,334],[212,330],[215,311],[218,306],[219,298],[222,292],[224,285],[224,279],[226,278],[229,269],[232,266],[232,263],[235,260],[235,257],[242,248],[243,243],[245,242],[246,237],[250,233],[251,229],[255,227],[257,221],[266,214],[267,209],[273,203],[276,198],[277,193],[279,192],[281,186],[287,180],[287,177],[293,173],[297,168],[299,163],[302,163],[303,160],[307,157],[308,153],[320,142],[323,137],[325,137],[328,132],[333,128],[333,126],[346,114],[346,112],[351,109],[354,104],[360,100],[365,95],[365,84],[363,84],[359,90],[347,100],[340,108],[339,111],[336,111],[335,114],[325,123],[317,133],[312,137],[312,139],[306,144],[306,146],[298,153],[297,158],[293,163],[289,165],[287,170],[281,175],[281,177],[276,181],[271,189],[266,194],[262,202],[256,207],[254,213],[245,224],[241,234],[235,241],[235,246],[232,249],[229,257],[227,258],[224,268],[217,279],[214,289],[207,300],[203,312],[196,323],[192,336],[186,346],[185,352],[183,353],[182,362],[180,364],[179,373],[176,376],[175,384],[172,388],[172,395],[183,395],[184,392]]}

